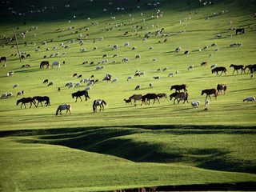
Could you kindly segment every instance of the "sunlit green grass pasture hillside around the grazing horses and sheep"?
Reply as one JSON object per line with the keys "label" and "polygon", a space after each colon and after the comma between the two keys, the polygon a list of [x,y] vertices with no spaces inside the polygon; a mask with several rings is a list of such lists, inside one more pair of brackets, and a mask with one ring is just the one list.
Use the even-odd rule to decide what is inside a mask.
{"label": "sunlit green grass pasture hillside around the grazing horses and sheep", "polygon": [[[244,98],[256,96],[255,78],[250,78],[247,70],[246,74],[241,70],[232,74],[234,69],[230,68],[231,64],[255,63],[255,1],[213,1],[206,6],[194,0],[190,4],[158,1],[160,4],[154,6],[156,2],[152,1],[152,6],[148,1],[2,2],[0,31],[6,39],[1,37],[0,56],[6,56],[6,63],[1,63],[6,67],[0,69],[0,94],[13,96],[0,99],[1,191],[102,191],[256,182],[256,103],[243,102]],[[64,8],[66,5],[70,8]],[[8,10],[10,7],[13,9]],[[30,10],[40,13],[31,14]],[[162,17],[156,18],[158,10]],[[37,29],[22,38],[22,32],[32,26]],[[246,34],[236,35],[228,30],[230,27],[244,27]],[[170,35],[155,35],[162,28],[162,34]],[[18,56],[10,56],[17,53],[15,42],[10,42],[13,30],[19,34],[20,51],[30,54],[22,62]],[[182,30],[185,32],[178,33]],[[151,37],[142,41],[149,32]],[[82,46],[79,34],[85,43]],[[216,38],[218,34],[221,38]],[[72,40],[74,43],[70,43]],[[42,45],[44,41],[46,45]],[[62,42],[69,48],[62,48]],[[129,46],[124,46],[126,42]],[[242,46],[230,47],[234,42]],[[216,46],[211,46],[213,43]],[[114,45],[120,47],[112,50]],[[94,46],[97,50],[93,50]],[[138,49],[132,50],[134,46]],[[209,47],[204,50],[204,46]],[[182,47],[179,53],[175,53],[177,47]],[[219,51],[214,51],[216,48]],[[190,54],[184,54],[186,50]],[[50,57],[56,53],[60,56]],[[107,57],[102,58],[103,54]],[[136,55],[141,58],[135,59]],[[123,58],[129,61],[122,62]],[[108,62],[97,64],[105,59]],[[59,61],[61,66],[40,69],[42,61]],[[94,65],[82,65],[86,61]],[[208,65],[201,66],[203,61]],[[26,64],[30,67],[22,68]],[[213,64],[225,66],[227,74],[212,74]],[[194,69],[188,70],[191,65]],[[105,68],[95,70],[97,66]],[[134,77],[135,70],[145,75]],[[14,75],[7,76],[11,71]],[[174,76],[168,77],[171,72]],[[85,98],[75,102],[71,94],[84,90],[87,83],[65,87],[67,82],[80,81],[73,78],[75,73],[82,74],[83,79],[94,74],[93,79],[99,80],[88,91],[90,99],[86,102]],[[118,78],[118,82],[103,82],[106,73],[112,74],[112,79]],[[134,78],[127,81],[130,75]],[[156,76],[160,79],[153,78]],[[54,86],[43,84],[45,79]],[[13,88],[16,83],[19,86]],[[216,88],[218,83],[226,84],[226,94],[218,95],[216,100],[212,97],[208,110],[204,110],[206,95],[201,91]],[[174,93],[170,86],[177,84],[186,84],[189,102],[200,101],[201,106],[192,108],[187,102],[174,105],[173,100],[149,106],[141,106],[138,101],[134,106],[123,101],[133,94],[169,95]],[[135,90],[138,85],[141,88]],[[22,97],[49,96],[50,106],[26,105],[21,109],[16,102],[22,97],[16,94],[22,90]],[[104,112],[93,113],[92,104],[98,98],[104,99],[107,106]],[[66,103],[72,106],[71,115],[63,111],[64,115],[56,117],[58,106]]]}

